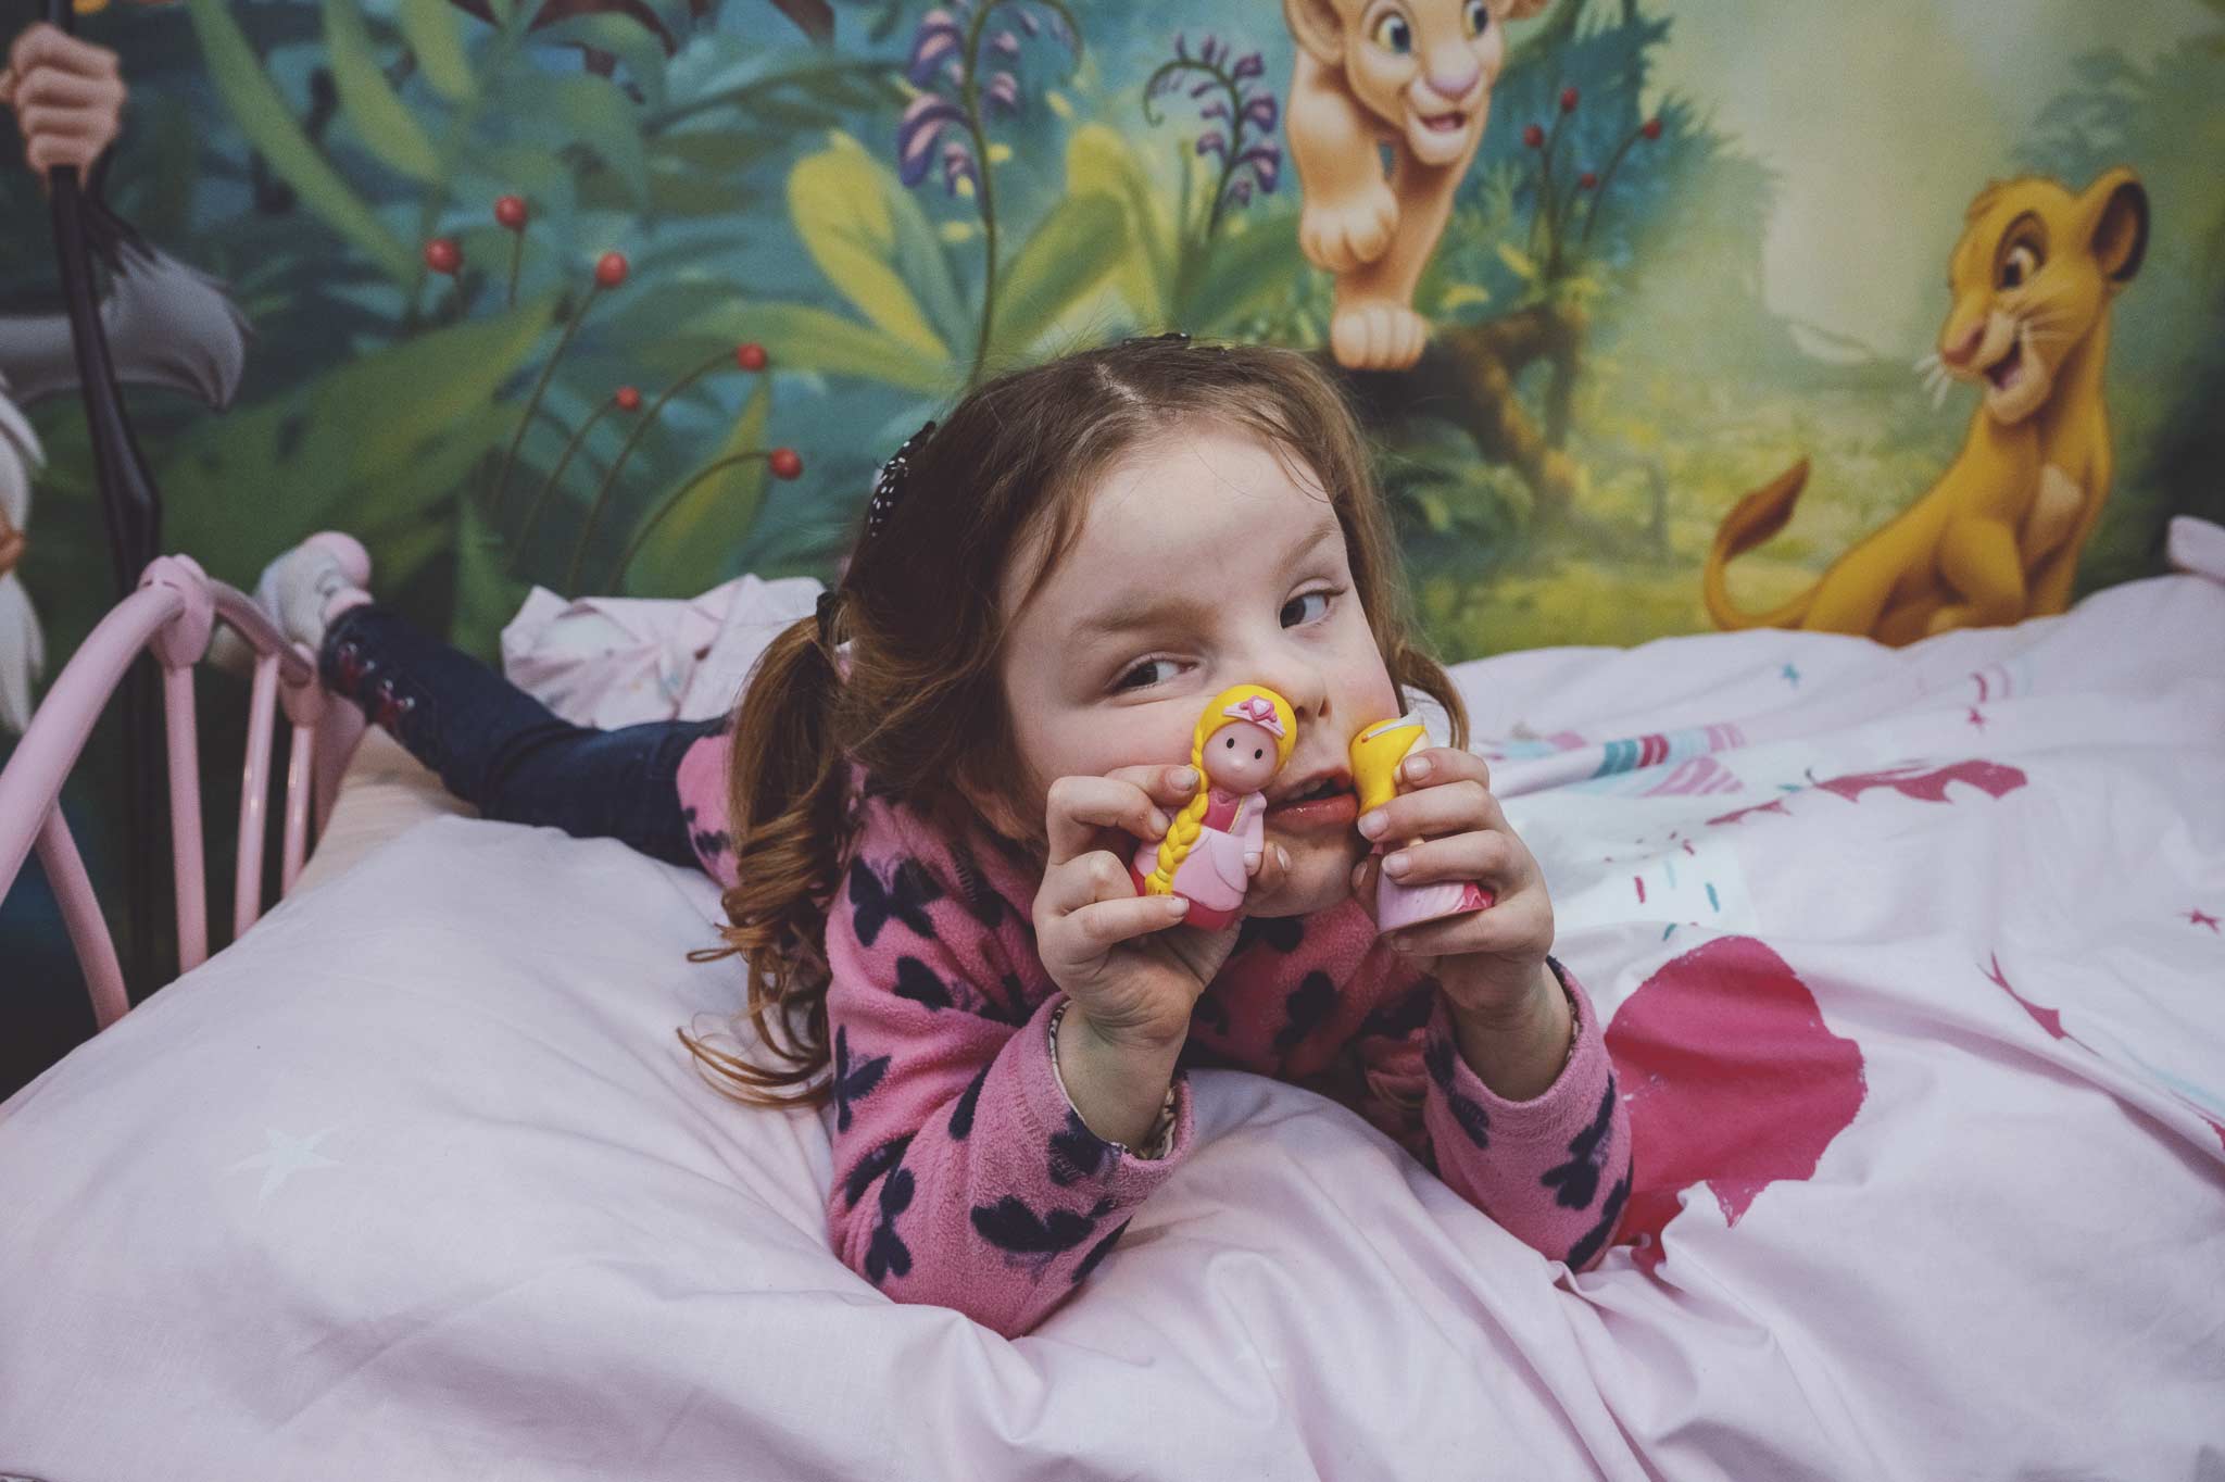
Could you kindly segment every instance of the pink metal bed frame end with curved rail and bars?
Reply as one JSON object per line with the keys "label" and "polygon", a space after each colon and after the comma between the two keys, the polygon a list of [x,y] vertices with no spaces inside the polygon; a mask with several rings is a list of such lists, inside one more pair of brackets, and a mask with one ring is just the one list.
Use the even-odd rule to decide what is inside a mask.
{"label": "pink metal bed frame end with curved rail and bars", "polygon": [[294,888],[300,875],[312,832],[323,830],[332,814],[340,772],[363,737],[363,714],[325,694],[309,650],[289,643],[243,592],[214,581],[191,556],[158,556],[147,565],[138,590],[93,628],[56,676],[31,717],[31,728],[22,734],[7,768],[0,770],[0,899],[13,888],[24,857],[38,848],[40,866],[60,899],[78,966],[85,970],[85,984],[93,999],[93,1021],[102,1030],[122,1019],[131,1001],[125,995],[116,941],[100,915],[91,877],[87,877],[78,846],[62,821],[58,806],[62,781],[140,650],[151,650],[162,668],[162,719],[169,737],[178,972],[198,968],[209,957],[209,906],[200,837],[194,665],[207,656],[216,623],[231,628],[254,650],[247,757],[240,774],[234,939],[263,915],[263,832],[276,708],[285,705],[294,728],[294,750],[285,779],[280,897]]}

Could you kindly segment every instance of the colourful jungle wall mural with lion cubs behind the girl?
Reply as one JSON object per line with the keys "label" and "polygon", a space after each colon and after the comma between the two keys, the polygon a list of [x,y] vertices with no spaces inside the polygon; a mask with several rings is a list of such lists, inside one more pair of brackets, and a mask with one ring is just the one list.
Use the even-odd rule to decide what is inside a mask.
{"label": "colourful jungle wall mural with lion cubs behind the girl", "polygon": [[950,396],[1159,329],[1339,369],[1448,659],[1907,643],[2225,503],[2225,0],[76,22],[0,76],[0,732],[113,596],[27,151],[96,160],[160,545],[251,585],[347,527],[490,656],[532,583],[828,574]]}

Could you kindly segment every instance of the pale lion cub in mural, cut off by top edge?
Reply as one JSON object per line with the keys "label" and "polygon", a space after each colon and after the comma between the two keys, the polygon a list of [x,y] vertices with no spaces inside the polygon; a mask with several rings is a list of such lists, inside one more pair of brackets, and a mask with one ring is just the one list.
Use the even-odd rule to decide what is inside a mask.
{"label": "pale lion cub in mural, cut off by top edge", "polygon": [[1297,42],[1284,125],[1306,196],[1297,245],[1337,276],[1337,365],[1406,369],[1422,358],[1428,323],[1413,312],[1413,287],[1484,142],[1506,60],[1502,22],[1544,2],[1282,0]]}

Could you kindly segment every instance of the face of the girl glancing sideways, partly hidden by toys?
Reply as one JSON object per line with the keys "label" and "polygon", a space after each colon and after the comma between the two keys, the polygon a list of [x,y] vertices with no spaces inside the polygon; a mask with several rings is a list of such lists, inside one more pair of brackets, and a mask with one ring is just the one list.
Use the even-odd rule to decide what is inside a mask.
{"label": "face of the girl glancing sideways, partly hidden by toys", "polygon": [[1290,701],[1297,745],[1266,783],[1266,837],[1290,870],[1246,912],[1348,897],[1366,843],[1346,745],[1400,705],[1311,470],[1246,429],[1179,423],[1097,481],[1072,547],[1026,599],[1039,563],[1041,541],[1001,594],[1017,610],[1003,692],[1028,832],[1059,777],[1188,761],[1206,701],[1257,683]]}

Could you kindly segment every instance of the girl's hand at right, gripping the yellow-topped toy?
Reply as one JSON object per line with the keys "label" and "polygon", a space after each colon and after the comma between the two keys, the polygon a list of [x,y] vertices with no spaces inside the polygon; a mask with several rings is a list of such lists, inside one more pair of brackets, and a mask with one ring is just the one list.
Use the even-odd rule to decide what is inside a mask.
{"label": "girl's hand at right, gripping the yellow-topped toy", "polygon": [[1386,941],[1433,975],[1455,1010],[1515,1019],[1551,981],[1542,972],[1553,948],[1544,875],[1491,797],[1482,757],[1433,745],[1406,757],[1397,777],[1400,794],[1359,819],[1362,834],[1391,843],[1359,861],[1353,890],[1368,912],[1377,868],[1402,886],[1473,879],[1491,890],[1497,901],[1484,910],[1408,926]]}

